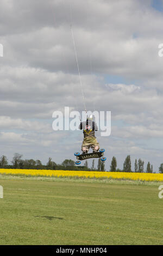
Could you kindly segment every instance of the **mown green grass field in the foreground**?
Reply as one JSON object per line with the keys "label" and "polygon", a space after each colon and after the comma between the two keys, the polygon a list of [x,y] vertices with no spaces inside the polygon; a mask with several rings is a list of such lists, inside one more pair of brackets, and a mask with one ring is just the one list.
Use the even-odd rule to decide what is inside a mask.
{"label": "mown green grass field in the foreground", "polygon": [[1,245],[162,245],[159,184],[0,176]]}

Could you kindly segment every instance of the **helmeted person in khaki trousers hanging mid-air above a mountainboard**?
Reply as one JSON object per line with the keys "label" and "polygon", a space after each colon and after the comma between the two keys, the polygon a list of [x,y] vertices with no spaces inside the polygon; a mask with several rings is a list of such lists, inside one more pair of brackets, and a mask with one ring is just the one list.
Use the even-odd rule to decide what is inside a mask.
{"label": "helmeted person in khaki trousers hanging mid-air above a mountainboard", "polygon": [[87,154],[89,149],[93,149],[93,153],[96,153],[99,150],[99,143],[95,137],[95,131],[98,131],[98,127],[95,121],[93,121],[92,115],[86,118],[86,121],[83,121],[79,125],[79,129],[83,130],[84,139],[82,144],[83,154]]}

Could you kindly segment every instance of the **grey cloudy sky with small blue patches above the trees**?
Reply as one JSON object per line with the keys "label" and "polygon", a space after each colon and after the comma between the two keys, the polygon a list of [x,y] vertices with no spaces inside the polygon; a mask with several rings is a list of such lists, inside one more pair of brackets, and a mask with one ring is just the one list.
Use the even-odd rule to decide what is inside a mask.
{"label": "grey cloudy sky with small blue patches above the trees", "polygon": [[[75,160],[81,131],[54,131],[54,111],[111,111],[111,135],[97,138],[123,168],[127,155],[163,162],[163,1],[0,0],[1,155]],[[72,25],[72,31],[71,31]],[[89,164],[91,165],[91,160]]]}

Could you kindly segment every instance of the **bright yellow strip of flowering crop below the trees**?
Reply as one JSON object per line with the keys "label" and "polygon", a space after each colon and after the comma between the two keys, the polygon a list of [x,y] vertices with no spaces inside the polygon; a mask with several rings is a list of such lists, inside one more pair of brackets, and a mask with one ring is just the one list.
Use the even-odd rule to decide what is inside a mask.
{"label": "bright yellow strip of flowering crop below the trees", "polygon": [[47,177],[85,177],[108,178],[141,181],[163,181],[161,173],[124,173],[124,172],[87,172],[79,170],[34,170],[34,169],[0,169],[0,174],[47,176]]}

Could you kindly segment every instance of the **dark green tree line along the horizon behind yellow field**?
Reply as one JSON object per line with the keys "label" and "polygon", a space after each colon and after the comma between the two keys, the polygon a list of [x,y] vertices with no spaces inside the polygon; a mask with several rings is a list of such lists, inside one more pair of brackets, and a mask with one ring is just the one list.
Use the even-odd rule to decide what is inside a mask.
{"label": "dark green tree line along the horizon behind yellow field", "polygon": [[[15,153],[12,158],[11,164],[8,163],[6,156],[0,157],[0,168],[9,168],[9,169],[51,169],[51,170],[95,170],[100,172],[105,172],[105,162],[98,159],[97,167],[95,167],[95,159],[92,160],[91,168],[88,167],[87,160],[84,163],[84,166],[76,166],[75,162],[71,159],[65,159],[61,164],[57,164],[52,161],[52,158],[49,157],[47,164],[42,164],[40,160],[33,159],[22,159],[22,155]],[[141,159],[135,159],[134,171],[131,170],[131,159],[130,155],[126,157],[123,163],[123,169],[117,168],[116,157],[112,157],[110,172],[136,172],[136,173],[153,173],[153,165],[148,162],[147,167],[144,167],[144,161]],[[160,164],[159,173],[163,173],[163,163]]]}

